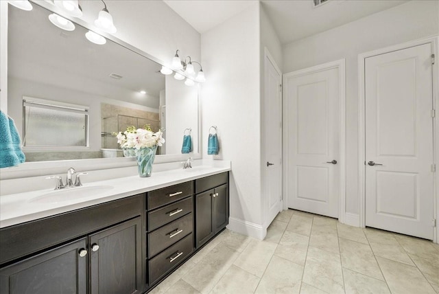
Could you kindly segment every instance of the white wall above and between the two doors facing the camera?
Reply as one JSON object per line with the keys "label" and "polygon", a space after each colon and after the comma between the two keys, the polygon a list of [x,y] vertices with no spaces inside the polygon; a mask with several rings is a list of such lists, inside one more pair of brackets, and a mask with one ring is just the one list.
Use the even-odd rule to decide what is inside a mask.
{"label": "white wall above and between the two doors facing the camera", "polygon": [[346,212],[359,213],[357,56],[439,34],[439,1],[410,1],[283,47],[283,71],[346,58]]}

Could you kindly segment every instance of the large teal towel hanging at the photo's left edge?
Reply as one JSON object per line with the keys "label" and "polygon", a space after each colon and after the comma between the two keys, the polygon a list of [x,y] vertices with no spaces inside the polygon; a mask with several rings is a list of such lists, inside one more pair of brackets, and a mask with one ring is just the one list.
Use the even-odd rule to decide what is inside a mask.
{"label": "large teal towel hanging at the photo's left edge", "polygon": [[25,162],[21,151],[21,139],[14,120],[0,111],[0,168],[8,168]]}

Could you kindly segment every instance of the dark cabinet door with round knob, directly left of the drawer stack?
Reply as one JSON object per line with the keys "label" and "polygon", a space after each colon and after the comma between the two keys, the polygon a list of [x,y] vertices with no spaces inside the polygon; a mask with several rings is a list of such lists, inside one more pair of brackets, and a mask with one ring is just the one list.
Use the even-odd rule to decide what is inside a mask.
{"label": "dark cabinet door with round knob, directly left of the drawer stack", "polygon": [[142,293],[141,217],[89,238],[91,294]]}

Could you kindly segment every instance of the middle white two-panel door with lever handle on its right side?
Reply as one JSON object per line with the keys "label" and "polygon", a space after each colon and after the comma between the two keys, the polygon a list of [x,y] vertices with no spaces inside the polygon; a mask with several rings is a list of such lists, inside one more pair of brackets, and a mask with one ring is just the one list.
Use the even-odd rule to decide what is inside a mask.
{"label": "middle white two-panel door with lever handle on its right side", "polygon": [[339,69],[286,76],[288,207],[338,218]]}

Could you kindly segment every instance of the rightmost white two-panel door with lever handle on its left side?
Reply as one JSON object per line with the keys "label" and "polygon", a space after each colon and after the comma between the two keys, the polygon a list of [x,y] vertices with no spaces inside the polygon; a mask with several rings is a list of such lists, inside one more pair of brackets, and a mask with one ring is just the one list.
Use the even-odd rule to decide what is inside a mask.
{"label": "rightmost white two-panel door with lever handle on its left side", "polygon": [[431,45],[365,60],[366,226],[432,239]]}

